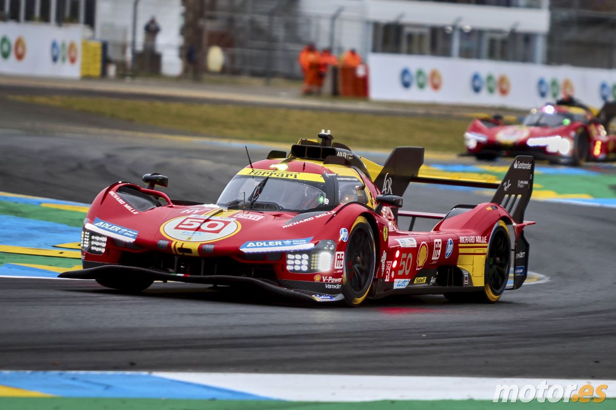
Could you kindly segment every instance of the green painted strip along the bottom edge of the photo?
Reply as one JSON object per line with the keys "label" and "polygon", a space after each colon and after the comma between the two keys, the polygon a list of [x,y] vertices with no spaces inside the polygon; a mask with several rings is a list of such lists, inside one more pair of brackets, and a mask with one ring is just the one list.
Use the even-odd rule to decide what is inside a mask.
{"label": "green painted strip along the bottom edge of the photo", "polygon": [[[587,408],[614,409],[616,400],[591,404]],[[492,403],[475,400],[368,401],[362,403],[307,403],[270,400],[155,400],[116,398],[0,398],[3,410],[489,410],[514,407],[519,409],[579,408],[578,403]],[[581,406],[583,407],[583,406]]]}

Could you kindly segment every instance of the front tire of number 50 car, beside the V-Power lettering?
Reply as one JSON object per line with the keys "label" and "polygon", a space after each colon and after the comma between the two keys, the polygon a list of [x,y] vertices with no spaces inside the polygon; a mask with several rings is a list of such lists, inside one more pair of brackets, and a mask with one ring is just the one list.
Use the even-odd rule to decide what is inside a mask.
{"label": "front tire of number 50 car, beside the V-Power lettering", "polygon": [[375,267],[375,236],[368,220],[358,216],[351,227],[344,256],[342,295],[347,306],[359,306],[366,299],[375,277]]}

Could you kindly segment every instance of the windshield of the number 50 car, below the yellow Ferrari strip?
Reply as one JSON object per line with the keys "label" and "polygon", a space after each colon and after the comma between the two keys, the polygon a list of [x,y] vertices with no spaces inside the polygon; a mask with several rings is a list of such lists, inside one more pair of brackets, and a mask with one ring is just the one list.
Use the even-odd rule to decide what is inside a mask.
{"label": "windshield of the number 50 car, below the yellow Ferrari strip", "polygon": [[305,212],[331,208],[333,192],[325,182],[236,175],[217,201],[228,208]]}

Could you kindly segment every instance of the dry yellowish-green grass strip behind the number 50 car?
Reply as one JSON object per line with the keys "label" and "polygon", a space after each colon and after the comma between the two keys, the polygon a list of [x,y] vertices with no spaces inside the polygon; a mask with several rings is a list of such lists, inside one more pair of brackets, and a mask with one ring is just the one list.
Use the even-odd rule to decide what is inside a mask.
{"label": "dry yellowish-green grass strip behind the number 50 car", "polygon": [[427,151],[463,151],[468,119],[388,116],[233,104],[197,104],[65,96],[11,96],[14,100],[92,112],[116,119],[251,141],[288,144],[315,138],[329,128],[351,147],[390,149],[423,146]]}

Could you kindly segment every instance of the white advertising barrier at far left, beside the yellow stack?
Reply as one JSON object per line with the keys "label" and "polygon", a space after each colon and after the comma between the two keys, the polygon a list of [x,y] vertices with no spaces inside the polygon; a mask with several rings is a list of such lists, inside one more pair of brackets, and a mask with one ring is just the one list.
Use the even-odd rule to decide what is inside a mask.
{"label": "white advertising barrier at far left, beside the yellow stack", "polygon": [[81,76],[81,28],[0,23],[0,73]]}

